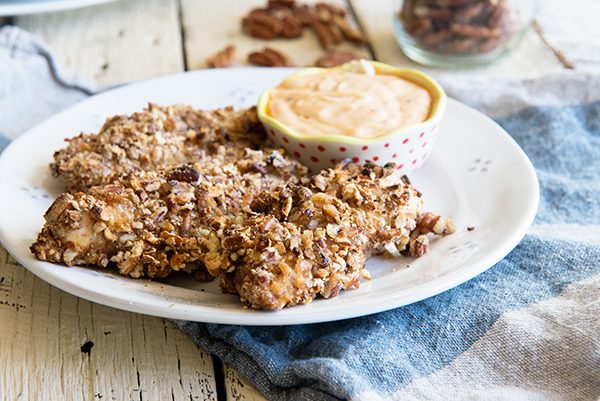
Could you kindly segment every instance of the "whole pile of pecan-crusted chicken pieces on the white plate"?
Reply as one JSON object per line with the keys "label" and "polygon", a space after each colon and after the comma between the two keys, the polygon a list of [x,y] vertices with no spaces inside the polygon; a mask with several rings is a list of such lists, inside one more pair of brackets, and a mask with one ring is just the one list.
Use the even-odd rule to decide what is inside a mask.
{"label": "whole pile of pecan-crusted chicken pieces on the white plate", "polygon": [[254,108],[149,107],[55,153],[67,185],[31,251],[41,260],[162,278],[219,277],[256,309],[356,288],[374,254],[422,256],[454,231],[394,165],[343,162],[308,177],[265,146]]}

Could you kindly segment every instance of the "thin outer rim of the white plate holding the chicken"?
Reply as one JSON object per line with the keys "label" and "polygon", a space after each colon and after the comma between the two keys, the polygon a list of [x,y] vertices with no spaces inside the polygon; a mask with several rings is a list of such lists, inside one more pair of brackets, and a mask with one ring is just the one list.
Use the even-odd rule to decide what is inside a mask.
{"label": "thin outer rim of the white plate holding the chicken", "polygon": [[[212,73],[213,71],[214,72],[219,71],[218,73],[223,73],[223,71],[237,72],[240,70],[248,71],[248,70],[266,70],[266,69],[267,68],[242,67],[242,68],[230,68],[227,70],[221,69],[220,71],[219,71],[219,69],[190,71],[190,72],[183,72],[183,73],[178,73],[178,74],[171,74],[171,75],[161,76],[161,77],[157,77],[157,78],[152,78],[149,80],[139,81],[139,82],[135,82],[135,83],[131,83],[131,84],[127,84],[127,85],[123,85],[123,86],[119,86],[116,88],[106,90],[98,95],[91,96],[87,99],[84,99],[80,102],[77,102],[77,103],[67,107],[66,109],[54,114],[53,116],[49,117],[48,119],[46,119],[46,120],[42,121],[41,123],[35,125],[34,127],[30,128],[24,134],[19,136],[17,139],[13,140],[9,144],[9,146],[3,151],[3,153],[0,155],[0,170],[2,170],[4,164],[7,163],[6,160],[8,159],[8,157],[6,155],[10,154],[10,152],[13,152],[13,149],[18,148],[19,143],[21,141],[25,141],[28,136],[34,135],[35,134],[34,131],[38,130],[40,126],[43,126],[52,120],[62,118],[63,114],[68,114],[71,111],[71,109],[73,109],[75,107],[81,107],[80,105],[82,103],[90,102],[93,100],[95,101],[95,99],[99,96],[103,96],[108,93],[113,93],[115,91],[127,91],[131,87],[143,86],[143,85],[148,85],[148,84],[151,85],[155,81],[168,80],[168,79],[173,79],[173,78],[186,76],[186,75],[196,75],[196,74],[202,75],[202,74],[207,74],[207,73],[209,74],[209,73]],[[293,68],[280,68],[280,70],[293,71],[294,69]],[[229,73],[229,72],[226,72],[226,74],[227,73]],[[274,315],[277,313],[277,311],[275,311],[275,312],[273,312],[273,311],[254,311],[254,310],[249,310],[249,309],[240,309],[240,310],[234,311],[233,315],[228,314],[228,313],[221,315],[218,313],[218,311],[215,311],[214,306],[201,306],[202,308],[207,308],[207,311],[206,311],[207,313],[203,314],[202,316],[194,316],[194,315],[192,315],[193,312],[190,310],[185,310],[185,309],[179,310],[179,309],[175,309],[175,308],[165,309],[164,307],[157,308],[156,306],[151,306],[148,303],[132,303],[130,301],[126,301],[121,298],[112,298],[112,297],[108,296],[106,294],[106,292],[98,291],[97,288],[85,288],[83,286],[74,285],[70,281],[65,281],[64,279],[62,279],[60,277],[61,276],[60,273],[57,272],[56,274],[53,274],[52,269],[44,269],[42,267],[36,266],[37,263],[41,264],[42,266],[46,265],[46,264],[54,265],[49,262],[42,262],[42,261],[34,260],[33,261],[34,263],[32,263],[30,265],[31,260],[26,260],[25,258],[21,257],[20,252],[16,250],[16,246],[17,246],[16,241],[13,243],[13,241],[11,241],[9,238],[9,233],[7,233],[5,231],[4,219],[3,219],[4,213],[2,211],[0,211],[0,242],[2,243],[4,248],[7,250],[7,252],[10,253],[10,255],[19,264],[21,264],[24,268],[26,268],[28,271],[32,272],[34,275],[36,275],[40,279],[44,280],[45,282],[65,291],[65,292],[68,292],[72,295],[75,295],[80,298],[89,300],[91,302],[99,303],[99,304],[102,304],[105,306],[110,306],[110,307],[114,307],[117,309],[126,310],[129,312],[143,313],[143,314],[152,315],[152,316],[159,316],[159,317],[163,317],[163,318],[191,320],[191,321],[200,321],[200,322],[209,322],[209,323],[221,323],[221,324],[238,324],[238,325],[255,325],[255,326],[275,326],[275,325],[277,325],[277,326],[279,326],[279,325],[331,322],[331,321],[336,321],[336,320],[366,316],[366,315],[370,315],[373,313],[383,312],[383,311],[395,309],[398,307],[402,307],[405,305],[409,305],[411,303],[418,302],[418,301],[421,301],[424,299],[428,299],[428,298],[438,295],[442,292],[445,292],[451,288],[454,288],[462,283],[465,283],[465,282],[473,279],[474,277],[478,276],[479,274],[481,274],[484,271],[488,270],[489,268],[493,267],[496,263],[498,263],[500,260],[502,260],[508,253],[510,253],[510,251],[512,251],[524,238],[524,236],[527,232],[527,229],[531,226],[531,224],[533,223],[533,221],[535,219],[535,216],[537,214],[537,208],[539,205],[540,188],[539,188],[539,180],[537,178],[535,168],[533,167],[533,164],[532,164],[531,160],[529,159],[529,157],[527,156],[527,154],[525,153],[525,151],[518,145],[518,143],[514,140],[514,138],[512,136],[510,136],[510,134],[508,134],[508,132],[506,132],[506,130],[504,130],[504,128],[502,128],[498,123],[496,123],[494,120],[492,120],[485,114],[483,114],[483,113],[473,109],[472,107],[467,106],[464,103],[459,102],[457,100],[449,98],[448,101],[449,101],[448,105],[449,106],[452,105],[451,106],[452,108],[453,107],[465,108],[469,112],[479,114],[481,117],[483,117],[485,120],[487,120],[488,123],[491,123],[492,125],[494,125],[497,128],[497,131],[498,131],[497,134],[502,135],[503,139],[508,140],[508,142],[510,143],[510,145],[512,147],[512,150],[517,152],[520,156],[520,159],[522,159],[525,162],[524,167],[526,167],[527,181],[529,181],[531,184],[533,184],[533,186],[531,188],[532,196],[531,196],[530,201],[527,204],[527,208],[525,210],[524,217],[515,225],[515,228],[514,228],[514,230],[512,230],[509,240],[503,242],[501,246],[494,248],[494,252],[490,252],[490,253],[486,254],[485,257],[483,257],[477,263],[470,264],[471,268],[469,270],[469,274],[462,274],[458,277],[451,278],[451,279],[446,278],[446,279],[441,280],[441,282],[438,282],[438,281],[440,281],[440,279],[437,279],[437,280],[434,279],[432,281],[428,281],[426,284],[429,286],[430,289],[427,291],[427,294],[425,296],[423,296],[422,294],[418,295],[418,294],[422,293],[422,291],[418,291],[419,285],[417,285],[415,288],[411,289],[411,292],[409,295],[403,295],[402,301],[400,301],[400,302],[395,302],[393,300],[393,297],[390,297],[387,299],[384,306],[378,306],[378,305],[372,305],[372,304],[366,303],[366,305],[363,305],[358,308],[353,307],[350,309],[340,310],[335,316],[329,316],[326,319],[318,319],[318,318],[311,317],[310,315],[307,316],[306,314],[299,314],[300,316],[296,316],[296,314],[294,314],[292,312],[288,312],[285,316],[283,316],[283,317],[280,316],[279,318],[277,318]],[[451,107],[449,107],[449,109]],[[53,152],[53,150],[50,150],[50,151]],[[425,283],[420,284],[420,285],[422,286],[424,284]],[[200,305],[195,305],[195,306],[200,307]],[[289,308],[287,310],[288,311],[295,310],[296,308],[302,308],[302,306]],[[212,312],[212,315],[208,316],[211,312]],[[269,315],[269,316],[267,316],[267,315]],[[274,320],[274,322],[270,322],[270,320]]]}

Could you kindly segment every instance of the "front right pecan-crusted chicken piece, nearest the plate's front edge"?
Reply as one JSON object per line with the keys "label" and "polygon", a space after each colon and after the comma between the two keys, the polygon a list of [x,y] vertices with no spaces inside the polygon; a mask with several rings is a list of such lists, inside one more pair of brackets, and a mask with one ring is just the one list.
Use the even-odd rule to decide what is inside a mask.
{"label": "front right pecan-crusted chicken piece, nearest the plate's front edge", "polygon": [[423,213],[420,193],[394,167],[342,164],[260,194],[256,213],[226,227],[219,250],[205,257],[209,272],[224,271],[223,288],[251,307],[280,309],[357,288],[373,254],[421,256],[424,219],[440,221],[442,235],[453,228]]}

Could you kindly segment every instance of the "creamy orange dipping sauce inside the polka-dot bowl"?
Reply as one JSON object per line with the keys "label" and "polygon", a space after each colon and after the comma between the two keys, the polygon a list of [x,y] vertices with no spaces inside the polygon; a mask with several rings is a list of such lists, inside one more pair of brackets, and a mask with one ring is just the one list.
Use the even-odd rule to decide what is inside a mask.
{"label": "creamy orange dipping sauce inside the polka-dot bowl", "polygon": [[429,117],[425,88],[394,75],[299,75],[271,91],[268,114],[294,133],[374,138]]}

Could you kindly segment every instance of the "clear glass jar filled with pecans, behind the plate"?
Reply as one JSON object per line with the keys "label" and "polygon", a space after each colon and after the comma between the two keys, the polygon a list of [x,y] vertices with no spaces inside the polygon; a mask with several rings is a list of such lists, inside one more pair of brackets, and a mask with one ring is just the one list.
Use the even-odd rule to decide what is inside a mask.
{"label": "clear glass jar filled with pecans, behind the plate", "polygon": [[421,64],[485,64],[519,41],[536,5],[536,0],[398,0],[396,40]]}

